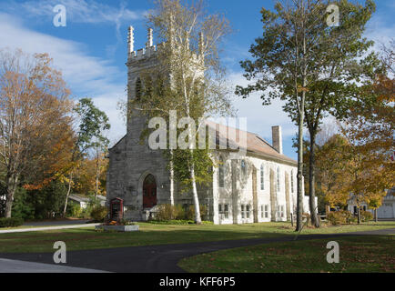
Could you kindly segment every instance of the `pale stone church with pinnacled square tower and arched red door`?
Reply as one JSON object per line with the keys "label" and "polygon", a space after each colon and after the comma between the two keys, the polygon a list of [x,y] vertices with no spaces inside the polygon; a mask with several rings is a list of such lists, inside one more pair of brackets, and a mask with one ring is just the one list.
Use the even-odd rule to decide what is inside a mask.
{"label": "pale stone church with pinnacled square tower and arched red door", "polygon": [[[147,38],[146,47],[135,51],[133,27],[129,27],[128,100],[136,97],[137,87],[141,85],[139,74],[155,65],[155,55],[160,49],[160,45],[153,45],[151,29]],[[144,126],[144,116],[129,116],[127,135],[109,150],[106,203],[114,198],[123,199],[124,218],[133,221],[147,220],[157,211],[157,206],[170,204],[167,160],[160,150],[139,143]],[[258,135],[243,134],[247,137],[245,156],[234,159],[227,149],[216,149],[213,153],[221,163],[212,170],[212,185],[199,186],[197,191],[200,205],[208,208],[203,218],[215,224],[289,220],[296,213],[298,165],[282,152],[280,126],[272,126],[272,145]],[[303,197],[304,212],[309,212],[309,197]],[[192,194],[178,193],[177,183],[174,201],[176,205],[193,205]]]}

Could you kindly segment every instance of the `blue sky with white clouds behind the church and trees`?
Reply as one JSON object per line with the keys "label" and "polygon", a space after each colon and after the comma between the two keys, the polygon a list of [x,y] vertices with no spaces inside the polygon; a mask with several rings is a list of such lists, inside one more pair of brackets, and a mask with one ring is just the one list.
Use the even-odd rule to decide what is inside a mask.
{"label": "blue sky with white clouds behind the church and trees", "polygon": [[[53,8],[66,6],[66,27],[53,25]],[[248,47],[261,35],[259,11],[272,8],[272,0],[208,0],[210,13],[227,16],[233,33],[223,44],[222,61],[233,85],[245,85],[238,62],[248,58]],[[145,0],[0,0],[0,47],[19,47],[28,53],[48,53],[63,71],[75,99],[90,96],[110,118],[112,142],[122,137],[126,127],[117,102],[126,100],[127,26],[135,27],[135,48],[147,42],[144,15],[153,7]],[[366,36],[387,43],[395,31],[395,2],[377,1]],[[155,40],[154,40],[155,43]],[[378,46],[377,46],[378,47]],[[238,116],[248,117],[248,131],[271,142],[271,126],[281,125],[284,153],[297,158],[291,147],[297,128],[281,110],[281,102],[262,106],[258,95],[234,97]]]}

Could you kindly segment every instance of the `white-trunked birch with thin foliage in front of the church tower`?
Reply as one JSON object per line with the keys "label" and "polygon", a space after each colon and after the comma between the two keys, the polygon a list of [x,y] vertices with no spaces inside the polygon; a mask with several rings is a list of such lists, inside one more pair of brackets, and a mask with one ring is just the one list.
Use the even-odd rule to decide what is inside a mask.
{"label": "white-trunked birch with thin foliage in front of the church tower", "polygon": [[[158,0],[155,10],[147,15],[147,22],[164,42],[157,45],[157,66],[148,75],[161,75],[164,80],[160,85],[161,94],[147,94],[147,102],[140,100],[134,108],[167,116],[170,110],[177,110],[178,119],[191,121],[185,128],[187,147],[180,149],[169,145],[171,151],[167,153],[174,167],[187,166],[184,181],[190,186],[195,220],[200,224],[197,176],[204,175],[198,173],[203,167],[197,166],[197,160],[205,158],[208,161],[210,156],[208,151],[198,152],[196,133],[201,126],[206,126],[203,118],[228,115],[231,111],[223,82],[224,70],[218,58],[219,45],[229,32],[228,21],[221,15],[206,15],[202,1],[188,5],[178,0]],[[174,144],[174,141],[170,139],[169,143]],[[184,152],[181,154],[180,150]],[[177,153],[183,158],[171,157]],[[174,165],[176,162],[182,165]]]}

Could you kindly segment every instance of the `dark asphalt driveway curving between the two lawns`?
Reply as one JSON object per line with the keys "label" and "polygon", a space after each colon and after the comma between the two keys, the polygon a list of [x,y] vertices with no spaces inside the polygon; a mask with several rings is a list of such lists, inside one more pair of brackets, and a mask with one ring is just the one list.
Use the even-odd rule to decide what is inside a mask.
{"label": "dark asphalt driveway curving between the two lawns", "polygon": [[[374,236],[395,234],[395,228],[347,234],[305,235],[298,240],[319,238],[336,239],[342,236]],[[67,252],[67,266],[126,273],[181,273],[177,262],[187,256],[195,256],[221,249],[254,246],[273,242],[291,242],[295,236],[228,240],[166,246],[132,246]],[[43,254],[0,254],[0,257],[39,263],[53,263],[52,253]]]}

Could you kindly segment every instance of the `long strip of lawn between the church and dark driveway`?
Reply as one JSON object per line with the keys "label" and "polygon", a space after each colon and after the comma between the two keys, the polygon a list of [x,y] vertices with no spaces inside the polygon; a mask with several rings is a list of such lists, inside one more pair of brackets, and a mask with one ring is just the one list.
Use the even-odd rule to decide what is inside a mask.
{"label": "long strip of lawn between the church and dark driveway", "polygon": [[[53,245],[56,241],[64,241],[67,250],[83,250],[295,235],[294,228],[289,223],[262,223],[241,226],[167,226],[148,223],[138,223],[138,225],[140,231],[131,233],[96,232],[93,227],[84,227],[0,234],[0,253],[53,252]],[[395,222],[370,223],[360,226],[331,226],[319,229],[307,228],[303,230],[301,236],[391,227],[395,227]]]}

